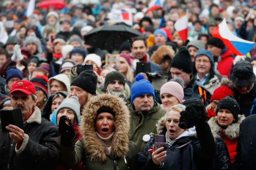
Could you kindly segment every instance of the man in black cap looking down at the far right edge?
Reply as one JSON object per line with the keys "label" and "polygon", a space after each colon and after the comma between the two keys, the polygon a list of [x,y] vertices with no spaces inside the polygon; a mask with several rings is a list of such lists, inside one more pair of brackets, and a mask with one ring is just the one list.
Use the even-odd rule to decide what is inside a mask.
{"label": "man in black cap looking down at the far right edge", "polygon": [[234,97],[240,106],[240,113],[246,116],[256,114],[256,85],[252,64],[248,61],[237,62],[231,81],[234,83]]}

